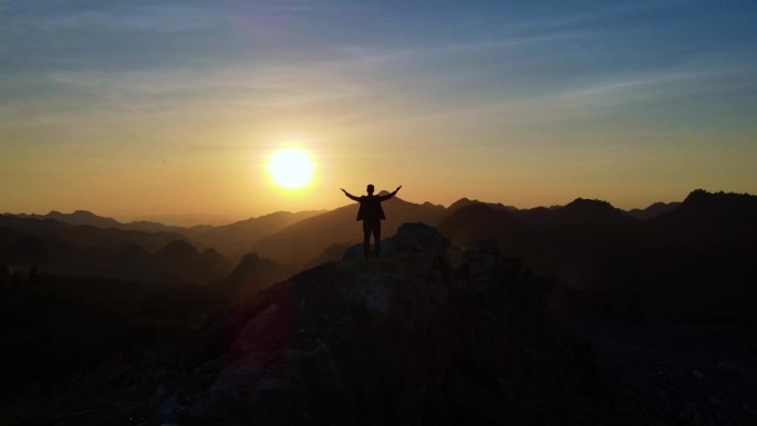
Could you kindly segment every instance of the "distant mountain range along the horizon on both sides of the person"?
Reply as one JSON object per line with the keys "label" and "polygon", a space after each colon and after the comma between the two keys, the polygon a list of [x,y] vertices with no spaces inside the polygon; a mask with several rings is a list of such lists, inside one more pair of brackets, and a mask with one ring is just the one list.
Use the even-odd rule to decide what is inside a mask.
{"label": "distant mountain range along the horizon on both sides of the person", "polygon": [[[384,202],[391,236],[403,222],[438,227],[453,245],[496,241],[507,256],[577,291],[611,294],[662,318],[753,321],[757,197],[692,191],[682,202],[623,211],[578,198],[517,209],[460,199],[449,207]],[[208,282],[255,253],[291,271],[338,260],[360,243],[357,206],[274,212],[220,227],[120,224],[86,211],[0,216],[0,263],[43,271]],[[135,228],[156,229],[156,231]],[[265,263],[265,262],[263,262]]]}

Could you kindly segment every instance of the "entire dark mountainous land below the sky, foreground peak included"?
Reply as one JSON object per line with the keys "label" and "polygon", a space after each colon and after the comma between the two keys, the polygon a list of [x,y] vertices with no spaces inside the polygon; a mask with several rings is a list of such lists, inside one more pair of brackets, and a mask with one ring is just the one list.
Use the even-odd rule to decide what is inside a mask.
{"label": "entire dark mountainous land below the sky, foreground peak included", "polygon": [[0,424],[754,423],[757,197],[385,210],[0,216]]}

